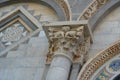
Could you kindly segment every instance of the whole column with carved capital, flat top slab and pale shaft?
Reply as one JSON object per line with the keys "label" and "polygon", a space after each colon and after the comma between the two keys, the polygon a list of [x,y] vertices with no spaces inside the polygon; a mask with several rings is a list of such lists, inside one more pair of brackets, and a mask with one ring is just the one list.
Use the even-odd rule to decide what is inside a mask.
{"label": "whole column with carved capital, flat top slab and pale shaft", "polygon": [[[46,80],[67,80],[72,63],[83,64],[92,42],[87,21],[48,23],[43,26],[49,40]],[[56,74],[57,73],[57,74]]]}

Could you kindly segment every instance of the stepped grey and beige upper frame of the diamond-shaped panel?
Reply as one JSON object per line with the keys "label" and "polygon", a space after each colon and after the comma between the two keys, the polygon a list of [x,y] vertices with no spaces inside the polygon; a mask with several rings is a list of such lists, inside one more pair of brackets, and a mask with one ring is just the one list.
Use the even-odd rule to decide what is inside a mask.
{"label": "stepped grey and beige upper frame of the diamond-shaped panel", "polygon": [[[0,18],[0,27],[2,28],[7,23],[11,22],[16,18],[21,18],[23,22],[25,22],[32,30],[36,30],[38,28],[42,29],[41,23],[37,21],[30,13],[28,13],[23,7],[18,7],[10,13]],[[21,22],[22,22],[21,21]],[[23,23],[22,22],[22,23]]]}

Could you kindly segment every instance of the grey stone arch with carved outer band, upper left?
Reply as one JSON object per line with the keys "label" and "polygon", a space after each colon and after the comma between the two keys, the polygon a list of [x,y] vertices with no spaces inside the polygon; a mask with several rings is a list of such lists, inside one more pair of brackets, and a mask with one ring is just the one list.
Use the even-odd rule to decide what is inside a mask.
{"label": "grey stone arch with carved outer band, upper left", "polygon": [[23,2],[42,3],[52,8],[58,15],[60,21],[71,20],[71,10],[67,0],[1,0],[0,7]]}

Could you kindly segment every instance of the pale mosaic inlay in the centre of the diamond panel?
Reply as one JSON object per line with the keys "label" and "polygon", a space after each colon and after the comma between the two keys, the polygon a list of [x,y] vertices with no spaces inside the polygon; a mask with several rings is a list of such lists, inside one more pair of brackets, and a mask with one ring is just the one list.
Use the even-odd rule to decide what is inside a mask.
{"label": "pale mosaic inlay in the centre of the diamond panel", "polygon": [[26,36],[27,33],[23,25],[16,22],[0,33],[0,40],[5,46],[8,46]]}

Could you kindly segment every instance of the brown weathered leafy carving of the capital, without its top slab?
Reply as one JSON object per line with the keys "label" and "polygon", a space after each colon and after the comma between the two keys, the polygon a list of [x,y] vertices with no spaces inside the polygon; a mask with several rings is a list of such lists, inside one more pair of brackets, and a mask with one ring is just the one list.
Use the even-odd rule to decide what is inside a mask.
{"label": "brown weathered leafy carving of the capital, without its top slab", "polygon": [[49,27],[49,52],[47,63],[50,63],[56,53],[73,55],[73,62],[83,63],[90,47],[90,37],[85,37],[84,26]]}

